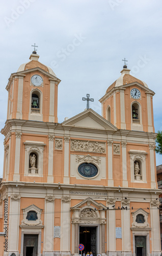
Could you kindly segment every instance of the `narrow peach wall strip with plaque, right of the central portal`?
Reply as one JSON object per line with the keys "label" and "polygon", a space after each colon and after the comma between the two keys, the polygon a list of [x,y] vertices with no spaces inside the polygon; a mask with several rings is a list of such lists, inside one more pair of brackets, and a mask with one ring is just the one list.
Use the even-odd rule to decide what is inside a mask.
{"label": "narrow peach wall strip with plaque, right of the central portal", "polygon": [[[121,227],[121,210],[118,210],[118,207],[121,208],[121,202],[116,201],[116,203],[115,203],[115,208],[117,209],[115,211],[116,227]],[[116,239],[116,248],[117,248],[117,251],[122,250],[122,239],[120,239],[120,238]]]}

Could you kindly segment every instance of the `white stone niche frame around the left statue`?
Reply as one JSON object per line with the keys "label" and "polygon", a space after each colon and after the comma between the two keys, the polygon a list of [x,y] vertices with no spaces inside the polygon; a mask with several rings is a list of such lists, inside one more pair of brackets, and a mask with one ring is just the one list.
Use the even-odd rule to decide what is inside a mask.
{"label": "white stone niche frame around the left statue", "polygon": [[[24,176],[36,176],[43,177],[43,151],[44,142],[39,141],[28,141],[24,142],[25,145],[25,166],[24,166]],[[38,174],[29,174],[29,156],[32,152],[37,153],[37,168]]]}

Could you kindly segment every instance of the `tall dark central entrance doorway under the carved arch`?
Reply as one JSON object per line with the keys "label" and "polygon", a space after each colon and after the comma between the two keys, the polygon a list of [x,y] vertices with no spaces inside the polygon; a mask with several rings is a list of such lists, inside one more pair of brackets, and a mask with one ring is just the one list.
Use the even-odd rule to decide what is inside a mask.
{"label": "tall dark central entrance doorway under the carved arch", "polygon": [[[85,246],[86,253],[92,251],[93,256],[97,256],[97,235],[96,227],[79,227],[79,244]],[[80,253],[79,253],[80,254]]]}

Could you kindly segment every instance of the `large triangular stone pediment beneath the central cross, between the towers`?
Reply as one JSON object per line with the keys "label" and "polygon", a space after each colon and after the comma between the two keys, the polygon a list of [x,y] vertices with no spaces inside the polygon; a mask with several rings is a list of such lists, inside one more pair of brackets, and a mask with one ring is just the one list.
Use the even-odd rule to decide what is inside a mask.
{"label": "large triangular stone pediment beneath the central cross, between the towers", "polygon": [[105,120],[92,109],[88,109],[62,123],[65,126],[83,127],[98,130],[117,131],[117,127]]}

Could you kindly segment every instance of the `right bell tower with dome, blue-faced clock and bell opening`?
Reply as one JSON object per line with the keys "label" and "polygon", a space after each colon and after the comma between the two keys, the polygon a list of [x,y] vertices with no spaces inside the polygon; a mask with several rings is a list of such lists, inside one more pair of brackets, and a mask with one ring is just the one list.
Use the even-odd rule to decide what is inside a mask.
{"label": "right bell tower with dome, blue-faced clock and bell opening", "polygon": [[131,76],[129,72],[130,69],[124,65],[121,76],[99,100],[102,104],[102,116],[118,129],[154,132],[154,92],[144,81]]}

